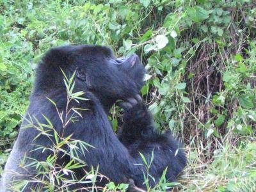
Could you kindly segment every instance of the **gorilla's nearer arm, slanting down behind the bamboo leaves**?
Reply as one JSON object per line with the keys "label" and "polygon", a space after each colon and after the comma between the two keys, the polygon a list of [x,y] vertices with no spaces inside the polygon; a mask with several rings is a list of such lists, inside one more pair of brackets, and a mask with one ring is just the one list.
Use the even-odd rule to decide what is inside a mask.
{"label": "gorilla's nearer arm, slanting down behind the bamboo leaves", "polygon": [[[67,135],[73,134],[72,138],[83,140],[94,147],[88,148],[85,157],[81,155],[79,158],[84,160],[89,168],[91,165],[94,168],[99,166],[99,173],[106,175],[113,182],[121,183],[133,179],[137,186],[141,186],[143,166],[135,165],[134,158],[118,140],[97,97],[86,92],[85,98],[89,100],[84,101],[83,108],[88,110],[83,112],[81,120],[67,127]],[[79,106],[81,105],[83,104],[80,103]]]}

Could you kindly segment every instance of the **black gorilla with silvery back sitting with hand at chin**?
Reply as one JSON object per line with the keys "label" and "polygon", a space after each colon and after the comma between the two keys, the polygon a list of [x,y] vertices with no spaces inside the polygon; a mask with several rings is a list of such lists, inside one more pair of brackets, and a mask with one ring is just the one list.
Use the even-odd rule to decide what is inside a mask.
{"label": "black gorilla with silvery back sitting with hand at chin", "polygon": [[[65,111],[67,92],[63,83],[61,69],[68,77],[76,71],[76,86],[74,92],[83,91],[88,100],[79,104],[72,102],[76,108],[86,108],[80,111],[83,118],[70,122],[65,131],[57,111],[47,97],[56,102],[59,111]],[[48,51],[36,70],[36,80],[30,105],[25,118],[33,117],[42,124],[47,124],[43,115],[51,120],[54,129],[63,136],[72,134],[74,140],[83,140],[95,148],[88,148],[85,156],[79,158],[91,166],[99,165],[99,172],[110,180],[120,183],[133,180],[140,188],[143,184],[143,164],[139,152],[150,159],[154,151],[154,161],[150,166],[150,186],[154,186],[163,171],[168,167],[166,179],[175,181],[177,175],[186,165],[186,156],[182,145],[173,140],[169,134],[159,134],[154,130],[152,116],[141,102],[138,93],[143,85],[145,69],[133,54],[129,58],[115,58],[108,47],[97,45],[68,45],[56,47]],[[125,109],[124,125],[119,138],[113,132],[108,120],[108,112],[116,100],[124,100],[120,106]],[[65,116],[65,112],[63,114]],[[22,126],[28,122],[24,120]],[[35,122],[36,124],[36,122]],[[49,134],[53,134],[48,130]],[[20,166],[31,163],[29,159],[45,161],[51,150],[40,150],[38,146],[51,147],[52,141],[35,128],[20,129],[19,136],[12,149],[4,169],[2,190],[9,189],[14,180],[33,178],[35,168]],[[38,137],[36,137],[38,136]],[[36,138],[36,139],[35,139]],[[59,164],[66,163],[67,158],[58,159]],[[84,170],[77,169],[76,176],[84,176]],[[104,181],[102,181],[104,184]],[[35,182],[29,182],[24,191],[35,189]],[[72,189],[81,188],[81,184],[70,186]]]}

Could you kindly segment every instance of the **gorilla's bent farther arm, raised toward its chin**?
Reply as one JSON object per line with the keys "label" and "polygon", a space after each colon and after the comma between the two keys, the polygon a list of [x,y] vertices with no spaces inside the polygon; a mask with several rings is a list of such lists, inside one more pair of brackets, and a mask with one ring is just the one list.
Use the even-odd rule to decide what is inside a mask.
{"label": "gorilla's bent farther arm, raised toward its chin", "polygon": [[[179,141],[172,138],[170,132],[161,134],[154,127],[153,117],[145,104],[136,105],[124,102],[120,106],[125,107],[124,124],[120,141],[128,148],[132,157],[138,163],[143,163],[139,152],[146,159],[151,159],[154,153],[154,160],[150,166],[150,175],[156,182],[161,177],[166,167],[166,179],[175,182],[177,176],[186,166],[186,155]],[[152,185],[151,185],[152,186]]]}

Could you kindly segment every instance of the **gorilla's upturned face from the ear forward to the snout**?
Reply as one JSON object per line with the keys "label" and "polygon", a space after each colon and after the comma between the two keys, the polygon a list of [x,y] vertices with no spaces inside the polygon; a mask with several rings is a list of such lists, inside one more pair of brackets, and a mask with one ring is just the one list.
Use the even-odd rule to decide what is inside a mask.
{"label": "gorilla's upturned face from the ear forward to the snout", "polygon": [[136,54],[115,58],[108,47],[77,46],[76,77],[109,108],[118,100],[134,98],[143,86],[145,68]]}

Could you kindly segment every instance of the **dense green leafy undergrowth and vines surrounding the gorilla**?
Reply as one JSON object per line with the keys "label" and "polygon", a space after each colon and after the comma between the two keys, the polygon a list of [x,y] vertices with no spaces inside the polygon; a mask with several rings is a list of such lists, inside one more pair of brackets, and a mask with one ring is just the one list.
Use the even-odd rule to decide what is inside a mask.
{"label": "dense green leafy undergrowth and vines surrounding the gorilla", "polygon": [[[145,64],[141,95],[157,128],[186,144],[180,191],[256,190],[255,1],[2,0],[0,13],[2,167],[42,54],[99,44]],[[120,117],[113,110],[115,131]]]}

